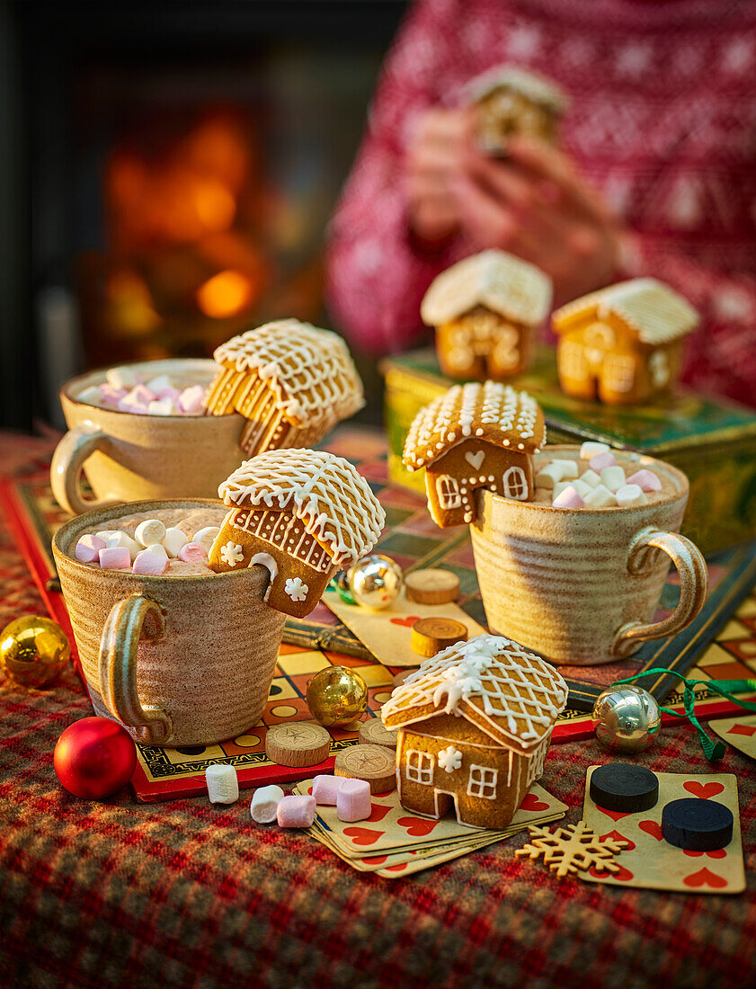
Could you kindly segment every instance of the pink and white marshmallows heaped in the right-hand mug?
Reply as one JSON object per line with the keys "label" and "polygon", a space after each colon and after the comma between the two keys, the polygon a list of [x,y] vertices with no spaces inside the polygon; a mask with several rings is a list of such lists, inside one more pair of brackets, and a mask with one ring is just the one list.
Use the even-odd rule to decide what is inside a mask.
{"label": "pink and white marshmallows heaped in the right-hand mug", "polygon": [[551,460],[536,475],[536,487],[553,490],[554,508],[612,508],[647,504],[646,492],[660,492],[661,481],[646,469],[626,478],[606,443],[583,443],[580,459],[588,470],[578,477],[574,460]]}

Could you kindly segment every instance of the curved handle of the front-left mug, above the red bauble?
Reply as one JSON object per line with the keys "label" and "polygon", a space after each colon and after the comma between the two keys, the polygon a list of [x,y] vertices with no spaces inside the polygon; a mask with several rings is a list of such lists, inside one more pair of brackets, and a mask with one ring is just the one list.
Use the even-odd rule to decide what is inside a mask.
{"label": "curved handle of the front-left mug, above the red bauble", "polygon": [[161,608],[142,594],[131,594],[111,608],[100,639],[100,693],[111,714],[136,729],[145,745],[162,745],[173,732],[170,715],[142,705],[136,690],[136,653],[142,632],[158,639],[165,631]]}

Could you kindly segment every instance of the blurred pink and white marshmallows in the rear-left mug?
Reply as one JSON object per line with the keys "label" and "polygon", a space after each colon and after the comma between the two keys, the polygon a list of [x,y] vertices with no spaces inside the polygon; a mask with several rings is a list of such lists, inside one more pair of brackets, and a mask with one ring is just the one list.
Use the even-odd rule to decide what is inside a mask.
{"label": "blurred pink and white marshmallows in the rear-left mug", "polygon": [[202,415],[205,410],[208,390],[202,385],[182,390],[167,374],[145,382],[131,368],[111,368],[105,377],[105,385],[86,388],[77,400],[137,415]]}

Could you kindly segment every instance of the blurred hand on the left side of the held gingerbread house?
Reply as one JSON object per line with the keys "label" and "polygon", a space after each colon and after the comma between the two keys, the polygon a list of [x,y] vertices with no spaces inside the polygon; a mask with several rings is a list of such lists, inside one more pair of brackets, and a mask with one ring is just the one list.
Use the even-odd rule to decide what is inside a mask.
{"label": "blurred hand on the left side of the held gingerbread house", "polygon": [[407,147],[409,225],[429,245],[451,236],[460,215],[453,184],[461,179],[470,153],[472,121],[465,110],[429,110]]}

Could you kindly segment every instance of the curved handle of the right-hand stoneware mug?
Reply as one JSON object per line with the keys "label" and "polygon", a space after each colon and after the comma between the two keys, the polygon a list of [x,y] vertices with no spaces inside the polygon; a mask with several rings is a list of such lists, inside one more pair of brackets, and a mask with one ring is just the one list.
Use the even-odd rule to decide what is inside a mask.
{"label": "curved handle of the right-hand stoneware mug", "polygon": [[623,625],[615,639],[615,655],[629,656],[638,641],[663,639],[675,635],[689,625],[704,606],[709,590],[709,571],[701,551],[690,539],[675,532],[663,532],[648,526],[636,532],[630,543],[628,571],[631,575],[642,575],[649,555],[653,550],[666,553],[680,575],[680,601],[668,618],[641,625],[628,622]]}

